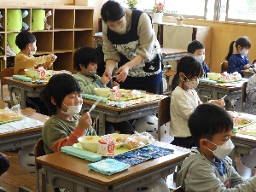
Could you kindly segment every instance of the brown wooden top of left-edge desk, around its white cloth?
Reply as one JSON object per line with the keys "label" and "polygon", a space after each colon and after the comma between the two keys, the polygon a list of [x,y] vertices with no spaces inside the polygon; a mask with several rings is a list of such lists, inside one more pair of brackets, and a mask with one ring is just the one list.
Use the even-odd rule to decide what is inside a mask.
{"label": "brown wooden top of left-edge desk, around its white cloth", "polygon": [[[29,111],[27,109],[21,109],[21,113],[26,115],[26,117],[29,117],[29,118],[32,118],[32,119],[37,119],[37,120],[40,120],[42,122],[45,122],[47,119],[49,119],[49,117],[44,115],[44,114],[32,112],[32,111]],[[6,138],[6,137],[20,136],[22,134],[26,134],[26,133],[33,132],[33,131],[41,131],[42,128],[43,128],[42,126],[38,126],[38,127],[22,129],[22,130],[19,130],[19,131],[0,133],[0,139],[1,138]]]}

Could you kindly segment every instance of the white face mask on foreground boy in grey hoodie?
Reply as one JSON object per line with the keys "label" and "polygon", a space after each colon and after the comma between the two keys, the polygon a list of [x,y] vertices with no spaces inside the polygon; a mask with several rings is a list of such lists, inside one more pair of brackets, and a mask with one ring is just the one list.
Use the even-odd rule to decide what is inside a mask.
{"label": "white face mask on foreground boy in grey hoodie", "polygon": [[[207,139],[206,139],[207,140]],[[207,140],[207,142],[212,143]],[[235,147],[234,144],[231,142],[231,139],[229,139],[226,143],[223,145],[217,145],[212,143],[213,145],[217,146],[217,148],[212,151],[210,148],[208,148],[209,151],[212,151],[212,154],[214,154],[216,157],[218,157],[221,160],[224,160],[224,158],[230,154],[232,149]]]}

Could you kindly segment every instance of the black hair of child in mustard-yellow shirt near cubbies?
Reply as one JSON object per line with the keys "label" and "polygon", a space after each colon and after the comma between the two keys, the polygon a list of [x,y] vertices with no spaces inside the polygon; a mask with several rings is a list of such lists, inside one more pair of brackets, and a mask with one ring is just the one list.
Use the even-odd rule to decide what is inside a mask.
{"label": "black hair of child in mustard-yellow shirt near cubbies", "polygon": [[20,50],[26,48],[26,44],[32,44],[36,42],[36,37],[31,33],[27,31],[21,31],[15,39],[15,44],[18,46]]}

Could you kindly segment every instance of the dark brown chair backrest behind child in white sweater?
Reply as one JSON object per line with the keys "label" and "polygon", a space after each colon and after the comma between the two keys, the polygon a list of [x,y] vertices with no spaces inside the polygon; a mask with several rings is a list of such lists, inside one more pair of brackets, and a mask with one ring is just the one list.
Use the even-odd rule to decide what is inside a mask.
{"label": "dark brown chair backrest behind child in white sweater", "polygon": [[164,125],[171,120],[170,103],[171,96],[167,96],[166,98],[160,100],[160,102],[158,103],[158,141],[160,141],[161,125]]}

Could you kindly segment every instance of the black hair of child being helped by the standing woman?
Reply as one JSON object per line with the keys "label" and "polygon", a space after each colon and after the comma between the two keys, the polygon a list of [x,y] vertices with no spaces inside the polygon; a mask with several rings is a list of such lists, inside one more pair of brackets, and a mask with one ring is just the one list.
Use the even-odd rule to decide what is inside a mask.
{"label": "black hair of child being helped by the standing woman", "polygon": [[98,63],[102,60],[101,53],[92,47],[84,46],[77,49],[73,54],[73,64],[77,71],[81,71],[79,64],[82,64],[85,68],[92,63]]}

